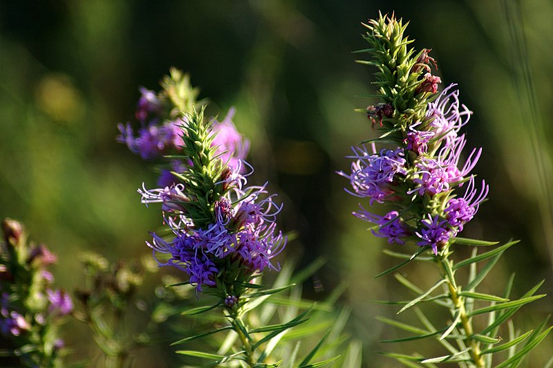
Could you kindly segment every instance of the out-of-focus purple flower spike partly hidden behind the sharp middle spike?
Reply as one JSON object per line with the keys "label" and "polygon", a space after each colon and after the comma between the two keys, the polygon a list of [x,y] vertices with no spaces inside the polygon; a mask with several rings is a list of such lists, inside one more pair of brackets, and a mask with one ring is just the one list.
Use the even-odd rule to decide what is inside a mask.
{"label": "out-of-focus purple flower spike partly hidden behind the sharp middle spike", "polygon": [[[182,152],[182,127],[187,125],[185,113],[190,113],[201,102],[196,101],[198,91],[191,87],[189,77],[180,71],[171,70],[171,77],[162,80],[162,91],[156,93],[144,87],[140,88],[140,99],[135,118],[140,123],[138,131],[131,124],[119,124],[118,142],[126,144],[144,160],[159,160],[163,156],[178,155]],[[249,142],[238,133],[232,117],[234,109],[220,122],[214,120],[210,126],[216,138],[212,147],[230,167],[238,167],[238,161],[245,158]],[[177,183],[174,173],[182,172],[184,166],[180,160],[171,160],[161,165],[158,185],[161,187]]]}

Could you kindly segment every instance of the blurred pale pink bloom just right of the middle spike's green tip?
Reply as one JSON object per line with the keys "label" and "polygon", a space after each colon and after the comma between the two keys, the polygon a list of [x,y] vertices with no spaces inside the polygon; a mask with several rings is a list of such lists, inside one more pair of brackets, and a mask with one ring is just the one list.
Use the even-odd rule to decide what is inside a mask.
{"label": "blurred pale pink bloom just right of the middle spike's green tip", "polygon": [[250,149],[250,142],[238,133],[232,122],[235,112],[234,108],[229,109],[223,121],[214,120],[209,126],[212,133],[216,134],[212,147],[216,147],[221,162],[233,168],[238,167],[238,162],[247,156]]}

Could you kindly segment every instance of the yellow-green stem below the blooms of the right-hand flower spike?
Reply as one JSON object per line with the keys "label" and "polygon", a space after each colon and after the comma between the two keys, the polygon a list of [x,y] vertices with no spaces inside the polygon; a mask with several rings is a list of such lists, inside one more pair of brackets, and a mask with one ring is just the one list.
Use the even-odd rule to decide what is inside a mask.
{"label": "yellow-green stem below the blooms of the right-hand flower spike", "polygon": [[[448,266],[444,266],[444,264],[446,263],[448,264]],[[453,274],[453,272],[447,272],[447,268],[449,268],[449,270],[453,269],[453,261],[449,260],[446,254],[442,259],[438,261],[438,266],[440,267],[440,271],[442,272],[442,277],[447,279],[447,288],[449,289],[449,297],[451,299],[451,302],[453,302],[454,308],[460,313],[461,325],[463,330],[465,330],[467,342],[469,342],[471,347],[470,353],[474,365],[476,365],[476,367],[478,368],[483,368],[485,367],[484,358],[480,353],[480,343],[472,338],[472,336],[474,335],[474,329],[472,327],[472,320],[471,318],[469,318],[467,310],[465,309],[465,298],[459,295],[460,290],[455,281],[455,275]]]}

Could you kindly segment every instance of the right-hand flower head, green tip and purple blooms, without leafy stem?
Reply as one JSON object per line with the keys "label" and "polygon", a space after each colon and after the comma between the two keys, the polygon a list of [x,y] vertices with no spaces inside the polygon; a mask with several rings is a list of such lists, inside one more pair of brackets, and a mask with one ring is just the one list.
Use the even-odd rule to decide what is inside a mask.
{"label": "right-hand flower head, green tip and purple blooms, without leafy stem", "polygon": [[[339,174],[349,179],[353,190],[346,191],[350,194],[368,199],[370,205],[395,208],[384,217],[365,208],[354,212],[376,224],[375,235],[390,243],[410,240],[430,246],[438,255],[474,217],[489,190],[484,181],[478,187],[470,174],[481,149],[473,149],[464,162],[461,158],[467,141],[460,129],[471,111],[460,103],[456,84],[438,93],[441,80],[432,75],[436,62],[430,50],[418,55],[407,50],[411,41],[400,37],[401,21],[381,17],[367,28],[365,38],[371,50],[377,50],[368,63],[379,68],[376,76],[381,86],[379,103],[368,107],[367,113],[382,134],[371,147],[353,147],[353,155],[347,156],[353,159],[351,172]],[[393,142],[393,146],[377,151],[379,142]],[[455,191],[462,185],[466,185],[465,194],[458,197]]]}

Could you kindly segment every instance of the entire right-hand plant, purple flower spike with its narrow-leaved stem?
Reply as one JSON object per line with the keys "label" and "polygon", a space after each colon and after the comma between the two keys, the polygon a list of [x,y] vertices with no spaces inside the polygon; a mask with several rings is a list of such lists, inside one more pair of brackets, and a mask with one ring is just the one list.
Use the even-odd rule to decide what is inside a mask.
{"label": "entire right-hand plant, purple flower spike with its narrow-leaved stem", "polygon": [[[352,147],[353,154],[347,156],[353,161],[351,171],[339,174],[350,181],[351,189],[346,192],[368,200],[371,207],[386,205],[392,208],[381,215],[360,204],[360,209],[353,212],[355,217],[375,224],[371,228],[373,234],[387,239],[388,243],[422,247],[412,255],[391,253],[406,261],[378,276],[394,272],[423,253],[429,253],[424,259],[431,260],[440,270],[441,279],[428,291],[397,277],[419,294],[406,302],[400,312],[419,302],[431,301],[449,309],[453,316],[442,329],[435,329],[428,318],[419,314],[420,322],[429,331],[412,325],[406,328],[424,331],[415,338],[429,338],[440,333],[438,342],[448,349],[449,355],[438,358],[420,358],[418,354],[392,356],[401,362],[458,362],[461,367],[491,367],[492,353],[513,349],[512,346],[522,340],[512,335],[512,342],[494,346],[502,340],[498,338],[500,325],[521,306],[545,295],[533,295],[537,287],[519,300],[509,300],[509,295],[498,297],[476,292],[476,286],[491,267],[516,242],[478,254],[478,248],[496,243],[458,237],[489,193],[485,181],[478,184],[471,174],[482,149],[472,149],[467,158],[462,158],[467,139],[461,129],[469,122],[471,111],[460,103],[456,84],[440,91],[442,80],[434,75],[438,66],[436,60],[429,55],[429,49],[416,53],[409,48],[413,40],[404,35],[406,24],[401,19],[379,15],[365,26],[368,32],[364,39],[370,47],[359,52],[368,53],[371,59],[359,62],[377,68],[374,82],[377,93],[365,96],[377,98],[378,102],[362,111],[366,112],[379,136]],[[377,145],[383,148],[378,150]],[[454,264],[455,248],[462,245],[476,248],[472,257]],[[478,262],[485,260],[487,264],[478,270]],[[470,267],[470,272],[469,282],[463,287],[456,282],[455,274],[465,266]],[[445,285],[444,295],[449,301],[443,300],[444,295],[433,295],[442,285]],[[489,305],[475,310],[475,302]],[[489,325],[476,331],[473,316],[484,313],[491,313]],[[391,323],[391,326],[397,324]],[[545,338],[551,328],[543,330],[544,326],[545,322],[528,344],[535,346]],[[457,347],[447,340],[455,341]],[[499,366],[520,362],[528,351],[521,349]]]}

